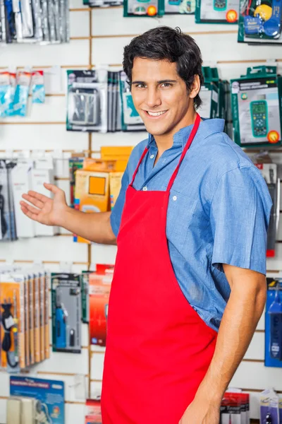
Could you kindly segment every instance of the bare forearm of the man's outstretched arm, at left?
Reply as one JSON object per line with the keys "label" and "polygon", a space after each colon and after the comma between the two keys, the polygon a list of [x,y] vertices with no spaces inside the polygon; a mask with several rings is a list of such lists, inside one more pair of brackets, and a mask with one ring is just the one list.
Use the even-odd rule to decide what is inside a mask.
{"label": "bare forearm of the man's outstretched arm, at left", "polygon": [[59,226],[91,242],[116,245],[110,216],[111,212],[84,213],[68,207],[61,213]]}

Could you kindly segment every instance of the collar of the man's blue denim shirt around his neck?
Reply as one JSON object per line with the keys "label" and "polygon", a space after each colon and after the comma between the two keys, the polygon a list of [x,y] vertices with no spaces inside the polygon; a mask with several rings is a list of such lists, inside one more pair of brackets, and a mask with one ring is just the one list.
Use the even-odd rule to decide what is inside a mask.
{"label": "collar of the man's blue denim shirt around his neck", "polygon": [[[185,126],[184,128],[181,128],[176,134],[174,134],[173,146],[182,146],[182,148],[184,148],[191,134],[192,127],[193,125]],[[222,132],[223,129],[224,119],[203,119],[203,121],[200,122],[200,126],[197,131],[197,137],[200,136],[202,139],[205,139],[211,134]],[[154,139],[154,136],[152,136],[152,134],[149,134],[147,148],[150,148],[152,146],[157,147],[157,144]]]}

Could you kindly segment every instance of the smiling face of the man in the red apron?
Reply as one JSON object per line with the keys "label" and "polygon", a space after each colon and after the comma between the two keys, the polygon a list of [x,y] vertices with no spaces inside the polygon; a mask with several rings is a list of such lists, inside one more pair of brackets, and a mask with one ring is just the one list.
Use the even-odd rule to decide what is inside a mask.
{"label": "smiling face of the man in the red apron", "polygon": [[131,93],[150,134],[162,136],[187,125],[185,121],[193,99],[185,81],[178,76],[176,63],[135,58]]}

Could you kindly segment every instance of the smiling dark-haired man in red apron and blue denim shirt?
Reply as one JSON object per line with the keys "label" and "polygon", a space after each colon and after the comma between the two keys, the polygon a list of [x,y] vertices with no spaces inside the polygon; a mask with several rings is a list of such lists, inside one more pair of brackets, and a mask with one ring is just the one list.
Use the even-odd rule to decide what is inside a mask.
{"label": "smiling dark-haired man in red apron and blue denim shirt", "polygon": [[[271,199],[247,155],[202,121],[199,47],[159,27],[123,68],[149,133],[111,213],[24,194],[23,212],[118,245],[108,315],[103,424],[218,424],[221,399],[264,309]],[[32,205],[28,204],[29,201]]]}

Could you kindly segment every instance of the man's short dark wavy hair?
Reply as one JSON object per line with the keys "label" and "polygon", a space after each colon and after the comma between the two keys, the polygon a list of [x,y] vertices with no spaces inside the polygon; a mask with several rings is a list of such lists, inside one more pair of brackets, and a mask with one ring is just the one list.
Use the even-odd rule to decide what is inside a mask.
{"label": "man's short dark wavy hair", "polygon": [[[123,53],[123,71],[132,81],[133,60],[142,57],[153,60],[168,60],[176,62],[180,78],[185,81],[188,90],[194,81],[195,75],[204,83],[202,74],[202,54],[195,40],[190,35],[183,34],[180,28],[161,26],[133,38]],[[195,108],[202,105],[200,96],[194,99]]]}

